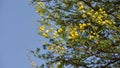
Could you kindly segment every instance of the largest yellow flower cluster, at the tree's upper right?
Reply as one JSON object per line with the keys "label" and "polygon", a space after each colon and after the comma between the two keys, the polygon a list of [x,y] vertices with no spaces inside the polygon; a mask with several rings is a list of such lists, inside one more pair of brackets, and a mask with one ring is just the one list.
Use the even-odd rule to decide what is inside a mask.
{"label": "largest yellow flower cluster, at the tree's upper right", "polygon": [[100,25],[111,25],[114,23],[113,20],[106,19],[108,15],[102,8],[98,11],[90,10],[87,12],[87,15],[91,16],[92,20]]}

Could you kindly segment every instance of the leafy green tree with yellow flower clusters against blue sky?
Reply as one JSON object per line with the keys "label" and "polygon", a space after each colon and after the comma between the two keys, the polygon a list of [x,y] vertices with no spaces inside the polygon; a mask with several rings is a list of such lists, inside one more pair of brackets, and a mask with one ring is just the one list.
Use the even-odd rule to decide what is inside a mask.
{"label": "leafy green tree with yellow flower clusters against blue sky", "polygon": [[[39,35],[47,51],[31,51],[44,66],[120,67],[119,0],[34,0],[40,15]],[[36,66],[39,68],[39,66]]]}

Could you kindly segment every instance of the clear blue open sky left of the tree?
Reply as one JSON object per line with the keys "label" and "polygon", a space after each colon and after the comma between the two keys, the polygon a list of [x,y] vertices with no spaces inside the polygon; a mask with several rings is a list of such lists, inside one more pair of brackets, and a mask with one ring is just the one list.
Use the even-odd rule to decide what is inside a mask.
{"label": "clear blue open sky left of the tree", "polygon": [[29,0],[0,0],[0,68],[30,68],[26,49],[40,47]]}

